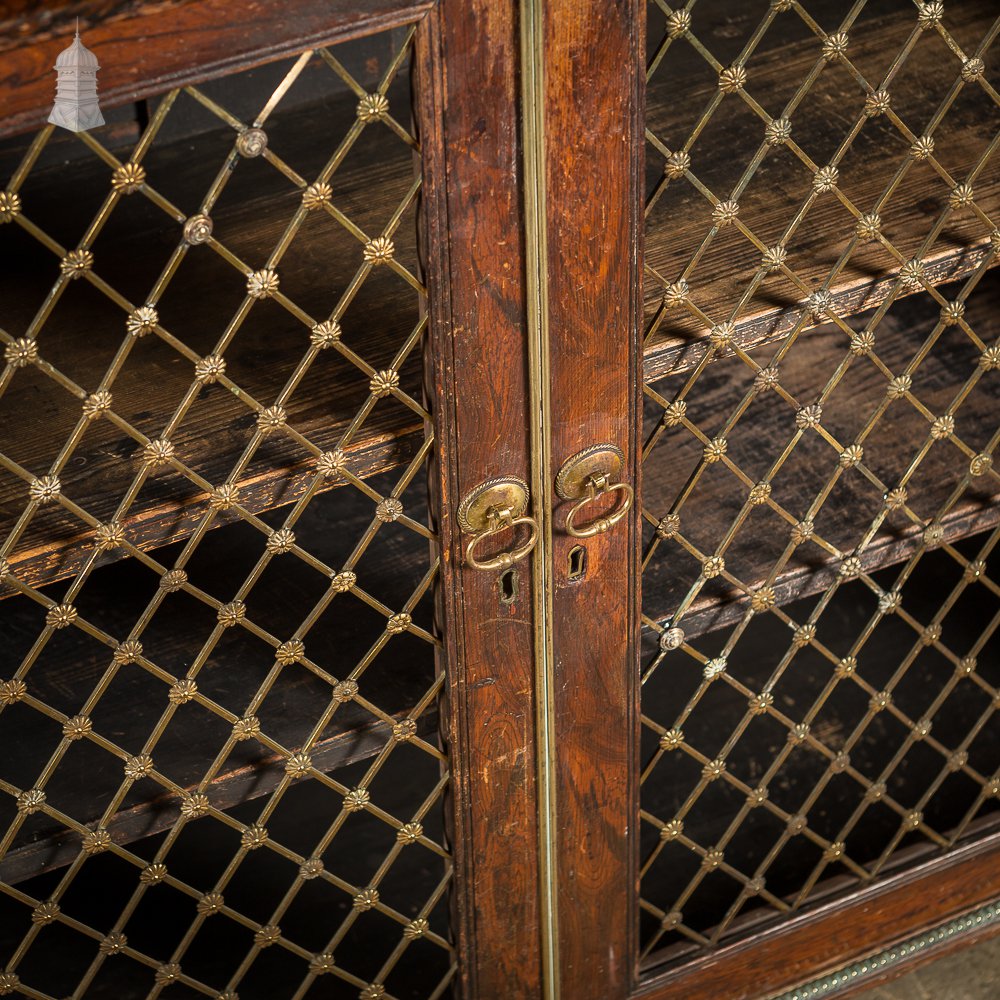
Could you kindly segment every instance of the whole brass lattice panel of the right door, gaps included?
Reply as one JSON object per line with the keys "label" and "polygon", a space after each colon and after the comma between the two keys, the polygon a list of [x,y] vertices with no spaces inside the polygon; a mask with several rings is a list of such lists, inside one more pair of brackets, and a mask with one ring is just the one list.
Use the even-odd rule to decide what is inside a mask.
{"label": "whole brass lattice panel of the right door, gaps included", "polygon": [[745,8],[649,5],[650,961],[1000,794],[1000,21]]}

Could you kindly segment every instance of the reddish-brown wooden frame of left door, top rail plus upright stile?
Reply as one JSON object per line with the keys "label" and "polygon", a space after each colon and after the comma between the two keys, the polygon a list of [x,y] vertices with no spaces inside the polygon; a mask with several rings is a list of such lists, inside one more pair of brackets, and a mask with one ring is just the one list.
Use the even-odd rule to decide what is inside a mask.
{"label": "reddish-brown wooden frame of left door, top rail plus upright stile", "polygon": [[[441,542],[441,725],[453,755],[459,988],[469,997],[539,995],[530,567],[518,566],[518,598],[502,602],[499,573],[463,565],[467,540],[453,518],[461,497],[484,479],[529,478],[517,5],[188,0],[99,10],[110,17],[112,7],[107,22],[81,18],[102,64],[107,107],[419,23],[413,75],[425,178],[426,383],[438,442],[431,492]],[[44,121],[52,64],[70,30],[65,23],[47,40],[5,53],[0,134]]]}

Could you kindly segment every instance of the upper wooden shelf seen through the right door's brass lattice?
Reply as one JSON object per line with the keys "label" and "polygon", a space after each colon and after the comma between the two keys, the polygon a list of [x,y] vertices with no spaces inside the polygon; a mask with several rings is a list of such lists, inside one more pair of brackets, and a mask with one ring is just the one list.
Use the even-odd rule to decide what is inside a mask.
{"label": "upper wooden shelf seen through the right door's brass lattice", "polygon": [[[736,12],[731,5],[725,5],[724,13],[729,38],[748,37],[750,27],[745,22],[756,23],[759,17],[755,10]],[[843,9],[834,4],[820,4],[813,13],[831,32],[843,17]],[[974,51],[992,18],[987,7],[975,0],[957,2],[948,7],[946,27]],[[702,23],[712,23],[709,12],[703,12]],[[849,33],[848,55],[869,81],[877,81],[903,48],[911,26],[911,19],[901,18],[896,9],[863,16]],[[706,41],[721,52],[728,44],[726,37],[719,34]],[[767,114],[779,117],[819,56],[819,40],[799,18],[777,19],[747,64],[747,94]],[[926,127],[960,69],[936,32],[920,35],[890,88],[892,108],[911,132],[919,135]],[[691,46],[676,42],[650,80],[648,129],[668,148],[682,147],[717,89],[717,78],[702,57]],[[823,166],[849,135],[864,98],[864,90],[843,65],[827,64],[791,115],[792,139]],[[967,179],[998,126],[1000,111],[992,98],[978,84],[966,86],[934,132],[935,157],[955,183]],[[763,120],[738,95],[727,96],[691,149],[691,171],[720,201],[725,200],[763,137]],[[887,117],[866,121],[839,167],[840,189],[860,212],[870,212],[878,204],[907,162],[909,145]],[[663,157],[648,144],[647,150],[647,191],[652,191],[662,179]],[[987,159],[973,187],[976,205],[995,224],[1000,220],[1000,175],[992,159]],[[739,197],[739,218],[765,246],[773,246],[811,193],[808,167],[787,148],[770,149]],[[882,232],[904,260],[920,253],[949,193],[949,184],[927,161],[916,161],[885,202],[880,212]],[[787,243],[788,266],[807,289],[819,289],[827,280],[854,236],[855,221],[836,194],[816,198]],[[683,178],[671,181],[647,218],[646,263],[664,280],[676,280],[711,227],[712,205],[705,196]],[[984,262],[992,266],[997,260],[989,240],[992,228],[970,208],[952,211],[921,255],[926,280],[939,284],[968,275]],[[759,272],[760,262],[760,249],[735,226],[721,229],[691,274],[692,301],[712,322],[728,320]],[[877,307],[894,294],[900,264],[880,243],[859,244],[829,286],[832,308],[847,317]],[[647,277],[644,292],[649,329],[661,308],[662,285]],[[786,274],[769,275],[741,309],[735,340],[745,348],[777,340],[804,316],[807,328],[817,325],[806,298],[807,292]],[[705,354],[706,334],[683,308],[664,311],[646,344],[646,380],[693,368]]]}

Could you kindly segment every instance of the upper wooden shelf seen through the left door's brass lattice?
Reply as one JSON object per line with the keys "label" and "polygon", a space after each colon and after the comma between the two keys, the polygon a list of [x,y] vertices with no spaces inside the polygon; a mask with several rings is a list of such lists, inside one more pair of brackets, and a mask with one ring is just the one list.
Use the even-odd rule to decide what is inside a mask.
{"label": "upper wooden shelf seen through the left door's brass lattice", "polygon": [[[321,67],[329,77],[333,74]],[[277,73],[273,67],[255,71]],[[304,74],[308,76],[308,74]],[[280,78],[280,76],[278,77]],[[405,81],[404,81],[405,82]],[[301,79],[314,96],[319,83]],[[219,86],[223,86],[220,82]],[[212,86],[205,89],[212,93]],[[398,100],[397,100],[398,98]],[[403,96],[391,92],[396,109]],[[232,148],[233,131],[218,128],[192,98],[171,111],[164,132],[144,160],[147,179],[187,216]],[[268,121],[269,149],[304,178],[315,177],[354,120],[357,101],[334,94],[278,111]],[[182,113],[183,112],[183,113]],[[173,116],[177,115],[177,121]],[[376,131],[377,130],[377,131]],[[330,138],[318,142],[317,136]],[[19,140],[20,147],[25,140]],[[17,143],[0,150],[16,162]],[[77,245],[110,189],[110,168],[96,156],[68,166],[64,141],[47,147],[21,196],[24,216],[65,247]],[[127,150],[120,150],[127,157]],[[70,176],[71,175],[71,176]],[[333,178],[334,205],[369,236],[378,235],[413,182],[411,150],[381,125],[366,129]],[[249,268],[262,267],[301,201],[300,190],[263,158],[242,160],[212,209],[214,237]],[[418,273],[415,207],[394,234],[396,259]],[[146,301],[181,242],[182,219],[170,217],[141,192],[121,199],[94,244],[94,273],[135,305]],[[3,328],[23,336],[56,280],[58,258],[17,225],[0,230],[5,265],[0,274]],[[315,320],[326,319],[363,260],[362,244],[323,211],[312,212],[278,266],[281,291]],[[240,271],[208,246],[188,250],[158,303],[161,325],[197,356],[212,353],[245,295]],[[420,319],[419,295],[388,267],[372,270],[343,318],[343,343],[374,370],[389,367]],[[44,362],[85,392],[100,383],[125,335],[125,311],[86,279],[69,282],[38,336]],[[225,350],[226,376],[261,406],[277,397],[309,347],[309,327],[273,300],[255,302]],[[420,347],[400,373],[401,387],[421,398]],[[150,439],[159,437],[193,383],[193,361],[161,338],[132,342],[114,381],[113,410]],[[369,397],[369,375],[323,350],[286,406],[288,425],[322,450],[337,446]],[[82,400],[49,378],[41,366],[15,371],[0,396],[0,452],[31,475],[49,471],[81,415]],[[224,482],[256,424],[252,404],[223,384],[204,386],[172,435],[176,454],[209,484]],[[379,400],[345,449],[348,468],[366,478],[407,463],[424,439],[421,415],[394,397]],[[140,469],[142,446],[107,419],[94,421],[61,475],[64,494],[98,521],[109,520]],[[315,477],[308,450],[278,433],[268,437],[238,478],[240,502],[259,512],[297,499]],[[331,480],[329,485],[337,485]],[[28,502],[27,483],[0,470],[0,525],[5,533]],[[160,470],[142,488],[123,519],[142,549],[184,538],[208,510],[208,493],[179,473]],[[223,523],[221,517],[216,523]],[[13,552],[14,573],[32,585],[73,574],[92,551],[92,532],[58,505],[42,508]],[[120,556],[120,553],[118,553]],[[115,558],[102,555],[101,560]]]}

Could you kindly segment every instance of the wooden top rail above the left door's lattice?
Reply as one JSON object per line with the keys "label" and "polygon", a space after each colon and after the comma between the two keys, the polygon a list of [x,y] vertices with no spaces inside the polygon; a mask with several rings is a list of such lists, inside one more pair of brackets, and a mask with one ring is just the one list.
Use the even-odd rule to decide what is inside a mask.
{"label": "wooden top rail above the left door's lattice", "polygon": [[[114,107],[172,87],[259,66],[304,49],[418,20],[431,0],[187,0],[118,5],[87,26],[86,45],[101,69],[102,105]],[[93,5],[88,5],[93,10]],[[76,15],[73,14],[75,17]],[[18,38],[0,67],[0,135],[42,124],[52,106],[56,56],[72,38],[69,13],[61,31]],[[40,26],[39,26],[40,27]],[[37,30],[37,29],[36,29]]]}

